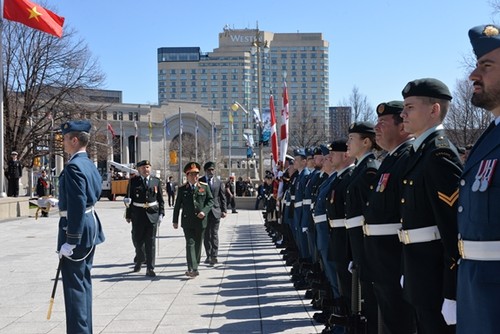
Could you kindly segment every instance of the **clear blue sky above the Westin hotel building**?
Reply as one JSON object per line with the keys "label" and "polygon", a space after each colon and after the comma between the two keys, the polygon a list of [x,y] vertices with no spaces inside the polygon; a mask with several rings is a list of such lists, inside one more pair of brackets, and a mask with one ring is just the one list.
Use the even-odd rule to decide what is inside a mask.
{"label": "clear blue sky above the Westin hotel building", "polygon": [[[321,32],[330,43],[330,105],[353,86],[373,107],[401,99],[413,79],[453,90],[471,55],[467,31],[491,23],[488,0],[168,1],[45,0],[77,31],[126,103],[157,103],[159,47],[218,46],[224,25],[271,32]],[[35,0],[36,2],[36,0]]]}

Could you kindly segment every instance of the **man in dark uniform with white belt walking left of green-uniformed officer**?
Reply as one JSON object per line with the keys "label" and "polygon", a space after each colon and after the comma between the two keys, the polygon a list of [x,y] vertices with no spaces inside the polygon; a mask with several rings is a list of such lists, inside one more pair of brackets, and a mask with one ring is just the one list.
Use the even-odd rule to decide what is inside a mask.
{"label": "man in dark uniform with white belt walking left of green-uniformed officer", "polygon": [[139,175],[131,178],[127,194],[129,200],[125,210],[127,223],[132,222],[132,240],[135,247],[134,272],[141,270],[146,255],[146,276],[155,277],[155,238],[157,225],[165,215],[161,180],[151,176],[151,163],[139,161],[136,165]]}

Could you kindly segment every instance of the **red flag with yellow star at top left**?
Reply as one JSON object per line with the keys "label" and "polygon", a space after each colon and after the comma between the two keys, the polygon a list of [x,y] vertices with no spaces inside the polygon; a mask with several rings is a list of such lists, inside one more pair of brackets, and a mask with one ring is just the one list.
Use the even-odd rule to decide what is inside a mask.
{"label": "red flag with yellow star at top left", "polygon": [[30,28],[62,37],[64,17],[58,16],[29,0],[4,0],[3,16]]}

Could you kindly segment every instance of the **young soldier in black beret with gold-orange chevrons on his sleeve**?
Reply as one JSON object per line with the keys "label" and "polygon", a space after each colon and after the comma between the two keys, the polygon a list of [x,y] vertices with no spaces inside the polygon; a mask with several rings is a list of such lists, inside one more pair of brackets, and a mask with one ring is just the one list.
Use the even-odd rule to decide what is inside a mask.
{"label": "young soldier in black beret with gold-orange chevrons on his sleeve", "polygon": [[456,321],[447,311],[456,300],[462,164],[441,124],[451,93],[443,82],[425,78],[410,81],[402,94],[404,129],[415,136],[401,183],[403,293],[415,309],[418,333],[454,333]]}

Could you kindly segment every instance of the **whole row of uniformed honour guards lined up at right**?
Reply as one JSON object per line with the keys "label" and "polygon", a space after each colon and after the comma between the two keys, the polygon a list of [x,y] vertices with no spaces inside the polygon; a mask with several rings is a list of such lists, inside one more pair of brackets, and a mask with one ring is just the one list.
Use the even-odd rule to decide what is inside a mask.
{"label": "whole row of uniformed honour guards lined up at right", "polygon": [[500,32],[469,37],[472,103],[495,120],[465,165],[442,125],[451,93],[424,78],[380,103],[376,124],[266,175],[266,228],[324,333],[498,332]]}

